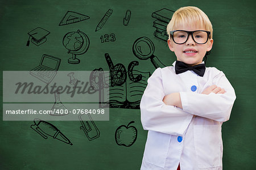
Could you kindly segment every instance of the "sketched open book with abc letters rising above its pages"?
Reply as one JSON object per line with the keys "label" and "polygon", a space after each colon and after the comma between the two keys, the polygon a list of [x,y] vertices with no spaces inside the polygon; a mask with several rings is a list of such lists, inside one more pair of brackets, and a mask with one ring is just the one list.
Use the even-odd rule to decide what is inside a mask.
{"label": "sketched open book with abc letters rising above its pages", "polygon": [[139,109],[141,97],[147,87],[147,79],[151,75],[150,72],[133,70],[133,67],[138,65],[137,61],[131,62],[126,71],[121,63],[114,66],[108,54],[105,54],[105,57],[110,67],[110,76],[103,75],[102,77],[103,82],[109,83],[109,88],[103,88],[105,83],[100,88],[101,107]]}

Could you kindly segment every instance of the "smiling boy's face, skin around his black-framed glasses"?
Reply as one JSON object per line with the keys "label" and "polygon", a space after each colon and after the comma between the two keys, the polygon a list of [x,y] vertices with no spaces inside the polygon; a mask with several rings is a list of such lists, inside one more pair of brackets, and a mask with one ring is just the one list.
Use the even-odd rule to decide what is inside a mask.
{"label": "smiling boy's face, skin around his black-framed glasses", "polygon": [[[182,26],[177,25],[175,30],[196,31],[204,30],[204,27],[196,25]],[[200,64],[203,61],[205,53],[212,49],[213,39],[210,39],[205,44],[197,44],[192,35],[188,36],[188,40],[184,44],[176,44],[172,38],[168,39],[168,46],[172,52],[175,53],[177,60],[187,63],[189,66]]]}

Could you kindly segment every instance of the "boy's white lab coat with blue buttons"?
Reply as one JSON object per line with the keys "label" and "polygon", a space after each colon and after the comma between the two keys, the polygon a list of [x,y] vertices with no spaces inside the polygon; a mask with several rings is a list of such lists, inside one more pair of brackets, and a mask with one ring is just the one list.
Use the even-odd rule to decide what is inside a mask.
{"label": "boy's white lab coat with blue buttons", "polygon": [[[234,89],[214,67],[201,77],[193,71],[175,74],[174,66],[156,69],[147,80],[141,121],[148,136],[141,169],[176,170],[179,163],[181,170],[222,169],[221,125],[229,120]],[[226,93],[201,94],[213,84]],[[180,92],[183,109],[163,103],[173,92]]]}

